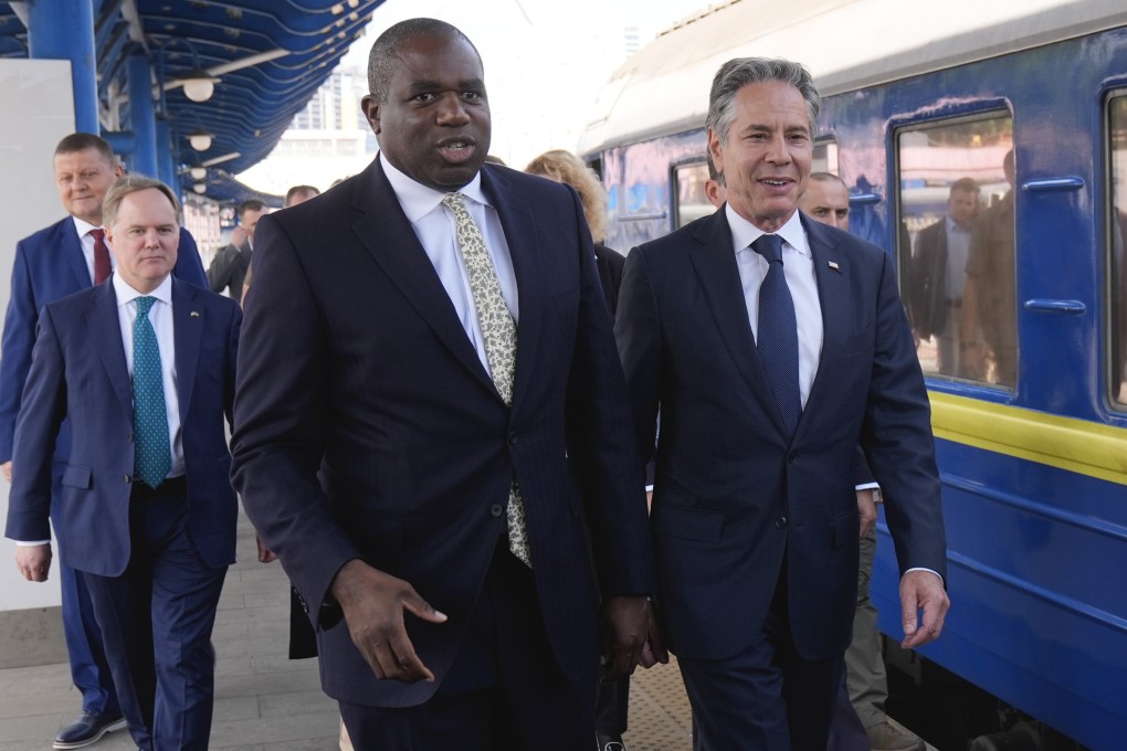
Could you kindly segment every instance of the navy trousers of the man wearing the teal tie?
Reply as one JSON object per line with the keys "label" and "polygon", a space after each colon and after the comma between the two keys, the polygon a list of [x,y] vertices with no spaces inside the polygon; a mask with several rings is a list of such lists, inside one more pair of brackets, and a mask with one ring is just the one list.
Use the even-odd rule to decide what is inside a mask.
{"label": "navy trousers of the man wearing the teal tie", "polygon": [[125,573],[85,574],[130,734],[142,751],[205,751],[215,686],[211,634],[227,566],[199,557],[183,479],[154,491],[136,483],[130,537]]}

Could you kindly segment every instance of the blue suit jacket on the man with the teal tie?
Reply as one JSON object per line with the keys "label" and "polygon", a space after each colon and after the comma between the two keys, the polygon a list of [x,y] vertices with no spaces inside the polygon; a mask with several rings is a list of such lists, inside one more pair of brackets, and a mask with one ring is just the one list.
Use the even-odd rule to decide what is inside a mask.
{"label": "blue suit jacket on the man with the teal tie", "polygon": [[[172,316],[189,534],[204,561],[228,565],[238,503],[223,419],[233,406],[241,313],[234,302],[174,279]],[[64,418],[72,442],[62,494],[52,499],[51,457]],[[7,536],[47,539],[48,515],[59,515],[64,564],[121,575],[131,554],[132,439],[133,390],[107,280],[43,310],[16,429]]]}

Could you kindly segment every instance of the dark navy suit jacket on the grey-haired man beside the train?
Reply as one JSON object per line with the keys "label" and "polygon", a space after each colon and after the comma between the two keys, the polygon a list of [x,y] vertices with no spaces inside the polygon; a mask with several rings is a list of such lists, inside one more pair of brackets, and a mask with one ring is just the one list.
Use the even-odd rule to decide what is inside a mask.
{"label": "dark navy suit jacket on the grey-haired man beside the train", "polygon": [[[788,437],[755,349],[724,212],[631,251],[615,323],[638,445],[654,446],[651,524],[666,636],[721,659],[758,634],[787,566],[807,659],[849,644],[857,602],[855,447],[885,494],[902,572],[946,575],[930,408],[893,263],[802,217],[824,341]],[[831,266],[834,263],[834,266]]]}

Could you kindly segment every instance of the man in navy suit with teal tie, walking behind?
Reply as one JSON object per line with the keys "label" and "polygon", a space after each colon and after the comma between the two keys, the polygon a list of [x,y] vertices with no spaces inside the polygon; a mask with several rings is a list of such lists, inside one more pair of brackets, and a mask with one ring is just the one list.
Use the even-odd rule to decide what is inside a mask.
{"label": "man in navy suit with teal tie, walking behind", "polygon": [[[174,279],[180,206],[122,178],[105,198],[108,280],[43,309],[16,426],[7,536],[30,581],[60,556],[90,592],[136,744],[206,749],[211,632],[234,561],[237,501],[224,418],[241,313]],[[71,445],[53,491],[62,422]],[[48,540],[41,544],[39,540]]]}

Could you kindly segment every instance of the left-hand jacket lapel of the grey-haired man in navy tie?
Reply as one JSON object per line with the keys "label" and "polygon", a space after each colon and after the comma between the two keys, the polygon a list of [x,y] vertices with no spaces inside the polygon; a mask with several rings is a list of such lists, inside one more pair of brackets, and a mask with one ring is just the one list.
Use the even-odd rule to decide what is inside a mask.
{"label": "left-hand jacket lapel of the grey-haired man in navy tie", "polygon": [[755,334],[747,319],[747,301],[731,249],[731,230],[724,211],[718,211],[711,221],[703,223],[693,240],[696,242],[690,251],[693,267],[728,355],[775,427],[786,432],[782,414],[755,349]]}

